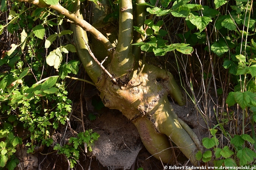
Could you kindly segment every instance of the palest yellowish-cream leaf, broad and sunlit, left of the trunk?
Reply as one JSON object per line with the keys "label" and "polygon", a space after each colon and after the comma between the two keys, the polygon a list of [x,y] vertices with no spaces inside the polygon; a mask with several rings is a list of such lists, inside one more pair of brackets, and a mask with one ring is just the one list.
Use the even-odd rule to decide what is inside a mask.
{"label": "palest yellowish-cream leaf, broad and sunlit, left of the trunk", "polygon": [[60,51],[60,48],[57,48],[51,51],[49,55],[46,57],[46,63],[49,66],[54,66],[55,69],[59,68],[61,62],[62,62],[62,53]]}

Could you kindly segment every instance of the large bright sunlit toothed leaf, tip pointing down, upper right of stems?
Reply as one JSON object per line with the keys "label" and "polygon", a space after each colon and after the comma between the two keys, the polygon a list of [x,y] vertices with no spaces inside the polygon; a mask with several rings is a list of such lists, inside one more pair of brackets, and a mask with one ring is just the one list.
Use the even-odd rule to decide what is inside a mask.
{"label": "large bright sunlit toothed leaf, tip pointing down, upper right of stems", "polygon": [[197,29],[199,29],[199,32],[202,32],[204,28],[206,28],[206,26],[209,24],[209,22],[212,22],[212,19],[210,19],[209,17],[191,15],[189,17],[189,21],[194,24]]}

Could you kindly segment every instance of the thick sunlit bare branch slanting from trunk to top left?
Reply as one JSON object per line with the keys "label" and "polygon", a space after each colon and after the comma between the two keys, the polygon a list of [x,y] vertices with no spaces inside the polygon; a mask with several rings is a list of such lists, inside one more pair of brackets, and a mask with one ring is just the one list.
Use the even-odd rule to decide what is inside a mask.
{"label": "thick sunlit bare branch slanting from trunk to top left", "polygon": [[[70,21],[74,22],[85,31],[88,31],[89,33],[91,33],[98,41],[100,41],[105,46],[106,49],[113,48],[110,41],[108,41],[108,39],[103,34],[101,34],[101,32],[99,32],[96,28],[92,27],[91,24],[89,24],[88,22],[84,21],[84,19],[79,18],[78,15],[75,15],[74,13],[66,10],[60,4],[48,5],[43,0],[18,0],[18,1],[28,2],[31,4],[37,5],[39,7],[47,7],[47,8],[53,9],[63,14],[65,17],[69,18]],[[109,51],[108,55],[112,56],[112,53],[113,53],[112,51]]]}

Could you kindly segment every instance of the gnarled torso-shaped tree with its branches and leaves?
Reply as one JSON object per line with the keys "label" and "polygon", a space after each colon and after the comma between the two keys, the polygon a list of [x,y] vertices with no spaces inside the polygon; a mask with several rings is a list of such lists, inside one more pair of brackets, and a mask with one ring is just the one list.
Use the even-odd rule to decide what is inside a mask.
{"label": "gnarled torso-shaped tree with its branches and leaves", "polygon": [[[182,106],[185,103],[183,94],[171,73],[165,69],[147,64],[145,58],[146,52],[154,52],[155,56],[163,56],[173,50],[188,55],[191,54],[193,49],[188,44],[168,44],[168,41],[162,39],[162,36],[167,34],[165,30],[161,29],[164,23],[161,20],[154,22],[154,19],[155,16],[164,16],[170,13],[175,17],[185,17],[187,19],[192,16],[191,11],[201,10],[201,5],[187,4],[187,0],[178,0],[172,5],[169,0],[150,0],[149,2],[144,0],[136,0],[136,2],[132,0],[118,0],[116,1],[119,6],[118,38],[115,44],[112,40],[108,39],[110,36],[99,31],[100,27],[96,29],[96,26],[93,27],[83,19],[80,8],[83,2],[80,2],[80,0],[19,1],[16,3],[23,5],[21,10],[18,13],[10,10],[9,17],[12,23],[15,23],[16,19],[26,12],[24,6],[28,6],[28,4],[30,4],[29,8],[34,9],[32,15],[37,15],[37,18],[41,17],[43,22],[33,27],[31,33],[28,33],[25,28],[21,33],[21,40],[17,44],[12,44],[12,48],[6,52],[7,56],[12,56],[18,48],[24,49],[28,39],[33,36],[38,40],[46,39],[43,46],[45,49],[50,49],[49,47],[57,36],[72,33],[73,39],[69,39],[70,44],[68,45],[47,51],[46,63],[59,71],[57,72],[59,75],[46,78],[47,80],[50,79],[47,82],[48,84],[45,83],[46,79],[41,80],[41,77],[38,77],[37,85],[41,86],[34,85],[29,88],[30,90],[26,91],[23,89],[19,94],[12,94],[15,96],[9,99],[12,103],[28,101],[35,96],[55,94],[57,88],[52,86],[56,83],[57,79],[69,77],[68,74],[74,73],[75,71],[73,72],[72,69],[77,67],[77,63],[76,66],[74,66],[74,63],[68,63],[69,66],[67,66],[63,54],[69,51],[76,52],[86,73],[93,81],[91,84],[94,84],[100,91],[100,97],[104,105],[111,109],[118,109],[134,123],[144,146],[154,157],[159,160],[161,159],[165,163],[174,161],[171,146],[176,145],[194,165],[197,164],[195,154],[200,149],[199,140],[188,125],[177,117],[167,98],[170,95]],[[108,1],[100,1],[101,4],[99,4],[95,0],[94,2],[98,9],[104,3],[108,3]],[[4,3],[2,4],[1,10],[5,8]],[[145,16],[146,12],[150,15]],[[94,13],[96,17],[97,12],[95,11]],[[53,16],[58,16],[57,22],[59,25],[56,24],[57,22],[54,23],[53,19],[49,19],[53,18]],[[97,16],[96,18],[100,17]],[[45,35],[45,30],[48,27],[52,24],[60,26],[63,21],[70,24],[72,31],[63,30],[58,34]],[[209,21],[207,22],[209,23]],[[204,23],[204,25],[206,26],[208,23]],[[1,33],[5,27],[8,26],[0,25]],[[94,42],[88,42],[87,34],[94,36]],[[70,36],[66,36],[66,38],[70,38]],[[103,46],[96,45],[98,42]],[[108,55],[106,61],[108,64],[103,63],[105,67],[97,60],[104,53]],[[143,53],[142,60],[140,60],[141,53]],[[63,63],[66,65],[63,65]],[[31,68],[26,69],[25,73],[22,72],[23,75],[17,79],[22,79],[30,71]],[[44,83],[42,83],[43,81]],[[22,83],[22,81],[15,79],[12,82],[15,82],[16,85]],[[51,86],[49,85],[50,82],[53,82]],[[46,84],[48,85],[47,87]],[[5,89],[9,87],[8,85],[10,83],[1,84],[1,87]],[[15,85],[12,84],[12,86]],[[1,93],[4,94],[4,91],[2,90]],[[38,94],[38,91],[40,94]],[[1,100],[4,101],[5,99],[1,98]],[[66,115],[62,116],[61,119],[56,118],[54,120],[65,123]],[[49,119],[52,118],[53,116],[49,117]],[[42,140],[46,140],[43,143],[44,145],[47,145],[47,141],[50,141],[48,138]],[[172,145],[170,142],[172,142]]]}

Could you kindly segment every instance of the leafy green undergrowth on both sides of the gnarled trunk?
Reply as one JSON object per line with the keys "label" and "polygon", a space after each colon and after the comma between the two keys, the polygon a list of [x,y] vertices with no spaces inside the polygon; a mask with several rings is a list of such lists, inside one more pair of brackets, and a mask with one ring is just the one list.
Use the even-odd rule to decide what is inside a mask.
{"label": "leafy green undergrowth on both sides of the gnarled trunk", "polygon": [[[146,19],[146,30],[134,27],[147,36],[145,41],[134,45],[155,56],[166,56],[175,49],[181,52],[175,53],[181,66],[178,72],[185,77],[181,82],[191,90],[190,100],[206,121],[210,134],[203,138],[204,152],[199,151],[197,159],[218,167],[255,165],[255,2],[160,2],[158,6],[156,0],[140,4],[147,6],[149,15],[158,18]],[[72,1],[60,3],[67,9],[73,8]],[[0,167],[13,170],[19,163],[14,154],[16,147],[23,144],[28,153],[41,153],[42,150],[35,148],[51,146],[55,152],[65,154],[73,168],[80,152],[87,147],[91,151],[99,135],[84,130],[70,137],[67,144],[53,146],[53,134],[60,126],[68,126],[72,113],[66,79],[73,78],[68,74],[79,73],[80,62],[71,54],[76,52],[75,46],[64,40],[72,31],[62,30],[63,15],[47,8],[2,0],[0,10]],[[116,18],[114,14],[116,11],[108,17]],[[192,57],[198,59],[196,70],[190,60],[183,60],[191,57],[184,54],[193,49]],[[199,79],[193,74],[196,71],[200,73]],[[196,87],[201,91],[199,99],[194,94]],[[217,123],[211,121],[209,101],[215,103]],[[203,103],[203,109],[199,102]],[[17,127],[27,131],[25,137],[17,133]]]}

